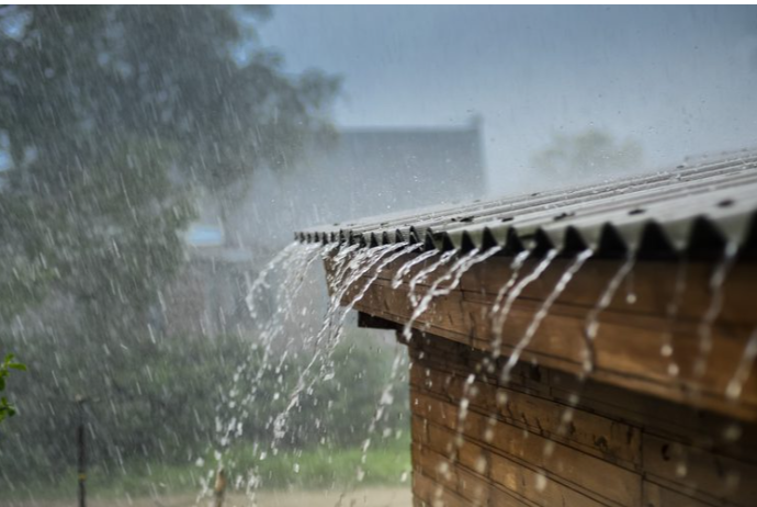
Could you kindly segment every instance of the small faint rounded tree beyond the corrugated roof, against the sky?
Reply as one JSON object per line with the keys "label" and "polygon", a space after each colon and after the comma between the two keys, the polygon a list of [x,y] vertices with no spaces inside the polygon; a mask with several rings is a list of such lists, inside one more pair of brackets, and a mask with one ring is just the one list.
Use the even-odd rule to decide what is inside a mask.
{"label": "small faint rounded tree beyond the corrugated roof, against the sky", "polygon": [[642,147],[633,139],[618,140],[607,132],[589,128],[579,134],[554,134],[536,153],[531,165],[544,172],[576,177],[634,169],[642,161]]}

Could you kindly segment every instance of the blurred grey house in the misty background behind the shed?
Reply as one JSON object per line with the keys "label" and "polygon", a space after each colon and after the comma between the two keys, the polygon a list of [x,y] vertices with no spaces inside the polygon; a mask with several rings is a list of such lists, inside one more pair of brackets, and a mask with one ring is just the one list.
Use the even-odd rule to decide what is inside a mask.
{"label": "blurred grey house in the misty background behind the shed", "polygon": [[262,168],[241,203],[201,204],[188,233],[184,273],[165,294],[167,333],[248,327],[245,278],[292,241],[293,230],[355,216],[476,199],[486,181],[482,123],[453,127],[346,128],[284,170]]}

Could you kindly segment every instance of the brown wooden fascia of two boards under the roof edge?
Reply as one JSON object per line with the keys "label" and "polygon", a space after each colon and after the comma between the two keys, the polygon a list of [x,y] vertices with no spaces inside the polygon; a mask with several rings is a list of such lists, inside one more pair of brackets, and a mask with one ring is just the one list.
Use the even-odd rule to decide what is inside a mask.
{"label": "brown wooden fascia of two boards under the roof edge", "polygon": [[[392,279],[410,258],[397,259],[380,273],[365,273],[347,291],[343,302],[349,302],[373,280],[355,304],[355,309],[380,318],[383,326],[391,327],[387,323],[404,326],[414,311],[408,297],[408,280],[436,260],[431,258],[414,267],[404,282],[394,289]],[[490,308],[497,292],[512,275],[510,262],[511,259],[493,257],[474,264],[463,274],[460,286],[431,302],[414,328],[490,351],[495,337]],[[535,262],[527,262],[519,272],[519,279],[530,273]],[[556,259],[535,282],[526,286],[512,305],[501,331],[504,354],[509,354],[519,345],[569,262],[569,259]],[[574,375],[581,374],[587,316],[621,264],[622,261],[614,260],[587,261],[557,297],[526,347],[522,360]],[[326,266],[331,268],[329,261]],[[749,375],[737,401],[725,396],[749,334],[757,327],[757,312],[754,309],[757,263],[737,262],[722,290],[713,293],[710,280],[716,268],[713,262],[691,261],[682,266],[673,261],[640,260],[608,307],[599,314],[595,342],[597,362],[591,379],[745,420],[757,420],[757,375]],[[448,270],[437,270],[416,288],[416,293],[422,296],[430,284]],[[680,280],[685,282],[681,284]],[[722,298],[722,309],[718,318],[711,327],[703,326],[703,315],[719,298]],[[673,301],[678,301],[674,316],[670,314]],[[700,350],[702,329],[712,336],[710,352]],[[671,349],[664,352],[668,345]],[[707,361],[707,369],[699,372],[696,364],[702,359]]]}

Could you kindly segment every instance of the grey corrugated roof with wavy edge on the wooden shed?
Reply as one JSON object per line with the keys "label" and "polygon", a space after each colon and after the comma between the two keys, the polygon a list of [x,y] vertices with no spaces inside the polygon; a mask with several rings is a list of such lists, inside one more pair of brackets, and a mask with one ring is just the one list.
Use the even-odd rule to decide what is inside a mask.
{"label": "grey corrugated roof with wavy edge on the wooden shed", "polygon": [[301,241],[377,246],[422,241],[426,248],[550,249],[600,255],[676,256],[757,244],[757,153],[697,167],[569,190],[472,202],[314,227]]}

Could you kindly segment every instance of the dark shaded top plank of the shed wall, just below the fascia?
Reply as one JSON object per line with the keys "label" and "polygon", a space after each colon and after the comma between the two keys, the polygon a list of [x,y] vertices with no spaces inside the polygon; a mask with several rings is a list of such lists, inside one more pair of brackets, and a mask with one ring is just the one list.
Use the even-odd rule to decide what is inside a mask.
{"label": "dark shaded top plank of the shed wall, just below the fascia", "polygon": [[[453,378],[466,379],[475,371],[486,353],[441,337],[417,336],[409,348],[413,359],[411,382],[418,384],[426,376],[436,375],[429,391],[442,391],[447,398],[454,398],[451,388]],[[448,379],[449,376],[449,379]],[[442,379],[443,385],[439,384]],[[478,378],[488,387],[502,388],[498,379],[479,372]],[[476,381],[478,385],[478,381]],[[622,422],[649,435],[668,438],[702,449],[716,450],[733,459],[757,464],[757,427],[710,412],[666,402],[621,387],[580,381],[574,375],[543,367],[520,363],[513,369],[513,376],[506,391],[535,399],[556,402],[560,406],[575,405],[577,409]],[[494,396],[478,396],[482,407],[489,410],[496,406]],[[474,405],[476,402],[473,402]],[[734,428],[741,437],[733,438]]]}

